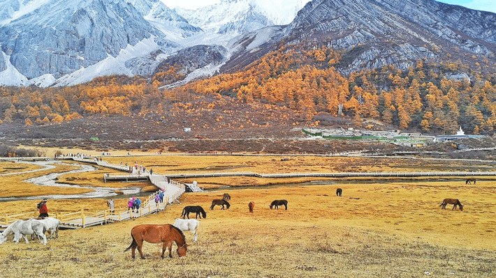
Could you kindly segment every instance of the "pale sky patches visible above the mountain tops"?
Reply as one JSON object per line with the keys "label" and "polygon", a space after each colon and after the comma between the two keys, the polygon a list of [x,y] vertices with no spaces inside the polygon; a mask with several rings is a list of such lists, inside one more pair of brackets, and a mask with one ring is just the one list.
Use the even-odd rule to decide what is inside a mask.
{"label": "pale sky patches visible above the mountain tops", "polygon": [[[220,0],[161,0],[169,8],[180,6],[189,10],[196,10],[203,6],[210,6],[215,3],[220,3]],[[438,0],[443,3],[464,6],[474,10],[487,10],[496,13],[496,0]]]}

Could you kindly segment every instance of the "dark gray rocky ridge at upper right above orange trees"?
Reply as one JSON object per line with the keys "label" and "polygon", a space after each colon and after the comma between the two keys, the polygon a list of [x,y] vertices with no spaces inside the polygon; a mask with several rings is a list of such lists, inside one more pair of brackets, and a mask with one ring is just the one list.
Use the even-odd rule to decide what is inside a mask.
{"label": "dark gray rocky ridge at upper right above orange trees", "polygon": [[432,0],[314,0],[286,28],[293,43],[312,38],[347,49],[346,73],[389,64],[405,70],[437,57],[436,49],[496,51],[494,13]]}

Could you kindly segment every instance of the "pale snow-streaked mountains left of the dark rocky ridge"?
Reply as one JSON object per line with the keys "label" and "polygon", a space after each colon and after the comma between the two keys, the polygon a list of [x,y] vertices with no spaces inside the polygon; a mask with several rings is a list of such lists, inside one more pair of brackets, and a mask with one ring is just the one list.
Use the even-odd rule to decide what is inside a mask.
{"label": "pale snow-streaked mountains left of the dark rocky ridge", "polygon": [[[295,5],[293,0],[279,2],[284,1],[292,9],[284,20],[291,22],[302,0],[294,0]],[[234,6],[235,17],[222,16]],[[266,16],[273,10],[265,9],[262,15],[263,9],[254,7],[249,0],[214,6],[207,13],[217,10],[218,16],[209,24],[224,24],[224,31],[212,31],[205,24],[189,24],[159,0],[3,1],[0,85],[71,86],[102,75],[150,75],[166,56],[182,48],[226,44],[238,34],[230,30],[274,24]]]}

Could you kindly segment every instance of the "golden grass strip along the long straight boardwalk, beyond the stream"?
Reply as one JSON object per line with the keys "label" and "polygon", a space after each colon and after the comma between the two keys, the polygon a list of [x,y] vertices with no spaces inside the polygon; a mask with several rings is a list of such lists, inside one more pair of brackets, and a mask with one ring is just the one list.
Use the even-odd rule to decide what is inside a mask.
{"label": "golden grass strip along the long straight boardwalk, beyond the stream", "polygon": [[[323,157],[323,156],[242,156],[242,155],[163,155],[136,157],[104,157],[112,164],[138,164],[154,173],[329,173],[329,172],[411,172],[411,171],[493,171],[488,162],[452,160],[421,160],[388,157]],[[419,178],[421,179],[421,178]],[[256,178],[219,177],[177,179],[205,189],[251,185],[305,183],[335,178]],[[342,180],[342,179],[341,179]]]}

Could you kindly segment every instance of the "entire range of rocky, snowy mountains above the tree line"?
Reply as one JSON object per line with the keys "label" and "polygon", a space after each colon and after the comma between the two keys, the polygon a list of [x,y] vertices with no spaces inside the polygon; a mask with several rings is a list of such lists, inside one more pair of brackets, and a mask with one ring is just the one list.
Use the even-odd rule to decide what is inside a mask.
{"label": "entire range of rocky, snowy mountains above the tree line", "polygon": [[[344,74],[384,65],[405,70],[419,59],[448,55],[467,64],[474,63],[472,56],[495,59],[494,13],[433,0],[306,2],[223,0],[191,11],[171,10],[159,0],[3,1],[0,85],[71,86],[115,74],[149,77],[170,55],[177,68],[188,68],[187,82],[242,69],[281,43],[341,49],[342,59],[334,66]],[[196,45],[222,48],[216,56],[221,61],[190,63],[203,59],[195,51],[189,54],[198,56],[178,58],[182,55],[176,52]]]}

